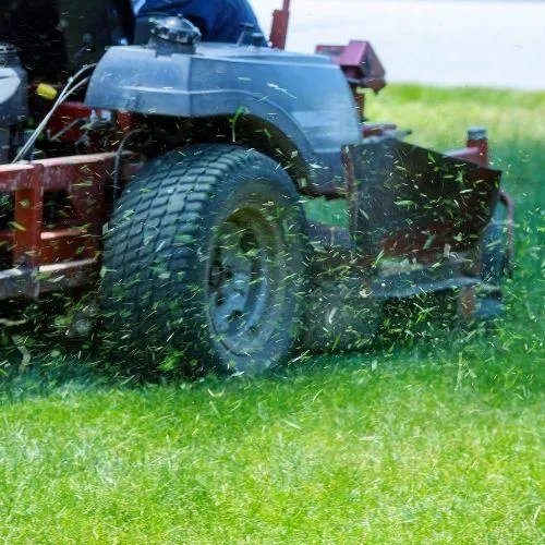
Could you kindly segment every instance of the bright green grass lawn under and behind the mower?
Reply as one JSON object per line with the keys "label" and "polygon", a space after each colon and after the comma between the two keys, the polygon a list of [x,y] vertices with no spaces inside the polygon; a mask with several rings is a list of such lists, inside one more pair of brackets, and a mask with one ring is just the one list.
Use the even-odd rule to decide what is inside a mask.
{"label": "bright green grass lawn under and behind the mower", "polygon": [[439,149],[489,128],[519,207],[505,323],[449,330],[411,312],[364,354],[145,386],[4,331],[0,538],[543,540],[545,94],[392,86],[370,112]]}

